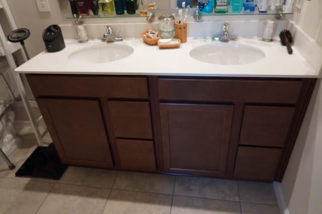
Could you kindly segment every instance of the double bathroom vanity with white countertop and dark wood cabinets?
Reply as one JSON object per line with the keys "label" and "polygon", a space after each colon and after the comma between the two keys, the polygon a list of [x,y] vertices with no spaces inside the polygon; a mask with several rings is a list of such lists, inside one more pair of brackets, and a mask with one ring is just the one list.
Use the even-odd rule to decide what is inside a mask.
{"label": "double bathroom vanity with white countertop and dark wood cabinets", "polygon": [[319,74],[296,49],[288,56],[273,43],[257,46],[265,58],[252,64],[189,58],[206,43],[158,50],[124,41],[131,56],[88,65],[68,61],[82,45],[67,42],[16,71],[26,73],[66,164],[281,181]]}

